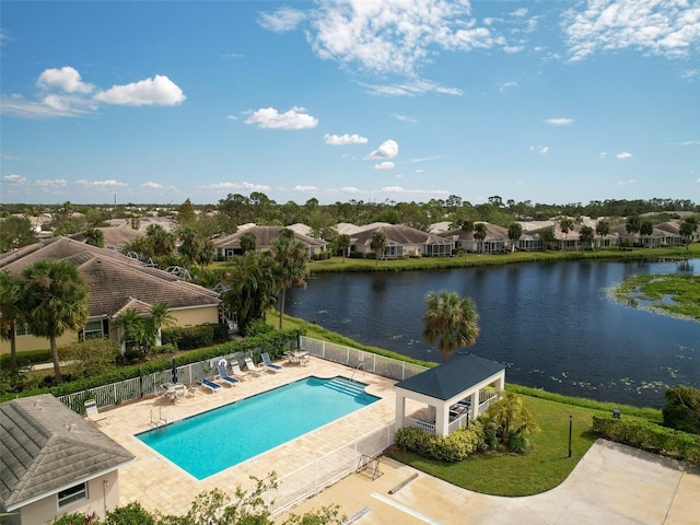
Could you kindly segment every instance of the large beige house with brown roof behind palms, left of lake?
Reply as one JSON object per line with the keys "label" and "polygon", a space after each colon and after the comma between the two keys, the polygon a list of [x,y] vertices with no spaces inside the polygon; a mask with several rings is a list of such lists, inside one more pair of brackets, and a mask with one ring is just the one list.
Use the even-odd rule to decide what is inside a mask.
{"label": "large beige house with brown roof behind palms, left of lake", "polygon": [[[176,326],[187,327],[219,322],[219,294],[186,282],[173,273],[143,266],[139,260],[118,252],[97,248],[68,237],[56,237],[22,249],[2,254],[0,270],[21,275],[24,268],[40,259],[69,260],[78,265],[90,291],[89,318],[85,326],[65,332],[58,345],[68,345],[85,337],[109,337],[121,341],[114,319],[125,310],[148,314],[155,302],[168,305]],[[8,341],[0,341],[7,345]],[[46,349],[49,341],[19,327],[18,351]]]}

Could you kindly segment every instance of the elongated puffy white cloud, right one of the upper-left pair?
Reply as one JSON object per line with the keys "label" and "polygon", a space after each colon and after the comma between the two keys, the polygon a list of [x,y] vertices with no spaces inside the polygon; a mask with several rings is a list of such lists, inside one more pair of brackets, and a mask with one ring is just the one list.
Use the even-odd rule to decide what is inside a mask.
{"label": "elongated puffy white cloud, right one of the upper-left pair", "polygon": [[163,74],[126,85],[113,85],[94,97],[106,104],[124,106],[174,106],[182,104],[185,98],[183,90]]}

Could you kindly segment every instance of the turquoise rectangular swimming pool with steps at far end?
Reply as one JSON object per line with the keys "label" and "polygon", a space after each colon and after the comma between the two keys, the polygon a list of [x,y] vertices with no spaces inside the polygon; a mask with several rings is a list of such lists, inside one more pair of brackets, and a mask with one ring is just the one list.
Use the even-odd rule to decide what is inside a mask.
{"label": "turquoise rectangular swimming pool with steps at far end", "polygon": [[136,436],[205,479],[380,399],[364,386],[312,376]]}

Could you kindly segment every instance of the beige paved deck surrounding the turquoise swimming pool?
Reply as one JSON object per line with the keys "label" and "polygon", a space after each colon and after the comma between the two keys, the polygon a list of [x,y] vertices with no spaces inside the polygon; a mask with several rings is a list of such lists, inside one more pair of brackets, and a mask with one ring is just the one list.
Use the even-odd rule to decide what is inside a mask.
{"label": "beige paved deck surrounding the turquoise swimming pool", "polygon": [[[238,487],[252,487],[250,476],[264,479],[276,472],[278,478],[282,477],[394,420],[393,386],[396,382],[393,380],[355,372],[313,357],[306,366],[288,364],[287,361],[278,364],[283,365],[282,372],[266,372],[259,376],[250,374],[245,381],[232,387],[223,386],[215,393],[196,389],[175,402],[166,397],[153,397],[101,410],[108,417],[108,423],[101,424],[100,429],[136,457],[130,465],[119,469],[120,504],[138,501],[149,511],[185,514],[199,493],[218,488],[233,494]],[[312,375],[351,377],[353,373],[357,381],[369,385],[369,394],[381,398],[378,401],[203,480],[185,472],[136,438],[136,434],[151,429],[151,412],[158,418],[161,409],[167,422],[173,422]],[[279,409],[284,410],[284,406]],[[275,419],[275,413],[260,413],[259,418]],[[250,424],[256,424],[256,420],[250,420]],[[231,429],[232,446],[235,433],[236,429]],[[211,454],[226,454],[226,451],[212,450]]]}

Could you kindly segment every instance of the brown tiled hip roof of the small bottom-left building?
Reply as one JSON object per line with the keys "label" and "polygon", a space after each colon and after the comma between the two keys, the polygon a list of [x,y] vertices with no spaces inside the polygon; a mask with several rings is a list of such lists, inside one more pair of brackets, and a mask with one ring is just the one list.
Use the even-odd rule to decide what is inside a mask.
{"label": "brown tiled hip roof of the small bottom-left building", "polygon": [[50,394],[0,404],[0,505],[14,510],[133,455]]}

